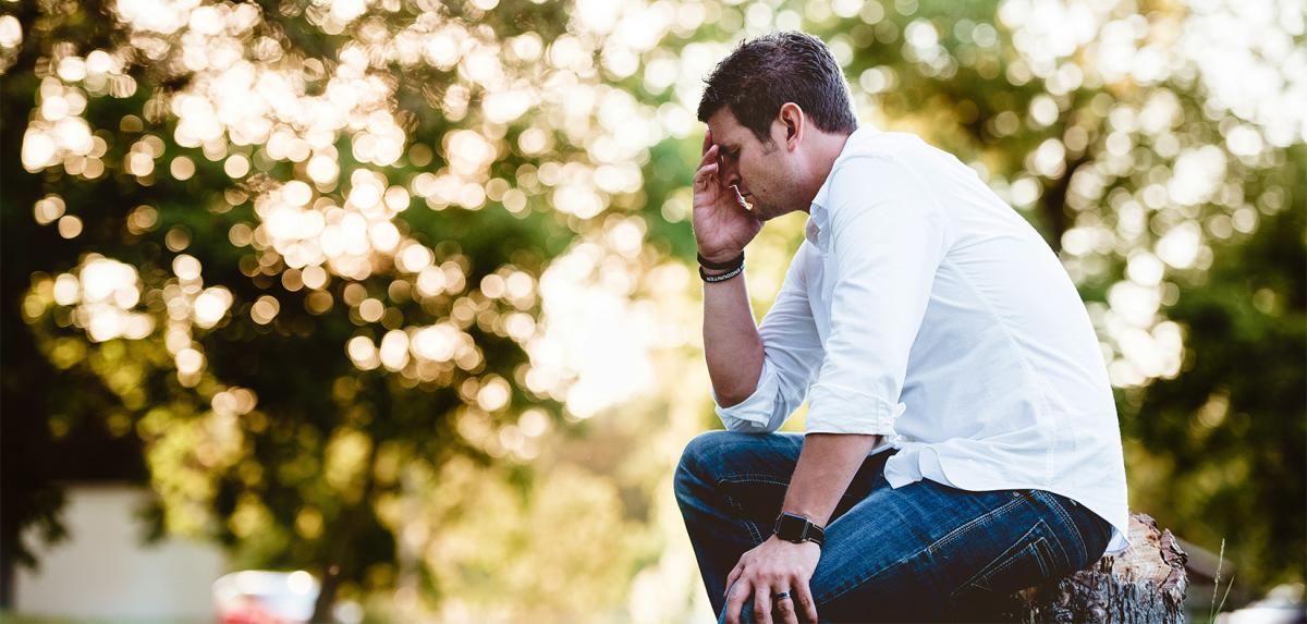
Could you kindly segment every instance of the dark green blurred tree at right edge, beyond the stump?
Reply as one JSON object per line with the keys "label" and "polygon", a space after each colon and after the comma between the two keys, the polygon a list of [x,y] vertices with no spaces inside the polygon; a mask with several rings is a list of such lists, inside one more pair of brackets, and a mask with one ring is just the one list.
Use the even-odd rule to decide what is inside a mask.
{"label": "dark green blurred tree at right edge, beyond the stump", "polygon": [[1307,548],[1307,148],[1289,158],[1248,183],[1291,204],[1182,278],[1167,316],[1185,328],[1183,372],[1148,386],[1131,431],[1166,462],[1138,500],[1191,540],[1225,539],[1252,587],[1300,582]]}

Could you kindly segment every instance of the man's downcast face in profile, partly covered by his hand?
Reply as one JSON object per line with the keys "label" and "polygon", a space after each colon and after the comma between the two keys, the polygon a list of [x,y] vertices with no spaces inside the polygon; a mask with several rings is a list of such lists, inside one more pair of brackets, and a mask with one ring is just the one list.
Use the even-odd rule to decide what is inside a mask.
{"label": "man's downcast face in profile, partly covered by his hand", "polygon": [[721,181],[740,189],[754,217],[767,221],[808,208],[797,193],[799,176],[795,159],[784,149],[782,124],[772,123],[770,142],[759,141],[729,108],[721,107],[708,117],[708,129],[720,154]]}

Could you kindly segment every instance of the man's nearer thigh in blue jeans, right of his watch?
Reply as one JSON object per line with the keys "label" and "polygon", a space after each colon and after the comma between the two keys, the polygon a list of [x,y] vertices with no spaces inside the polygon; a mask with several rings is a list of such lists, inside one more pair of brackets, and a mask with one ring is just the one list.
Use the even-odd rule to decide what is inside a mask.
{"label": "man's nearer thigh in blue jeans, right of his watch", "polygon": [[878,487],[826,530],[810,584],[818,614],[823,621],[957,617],[1080,569],[1086,548],[1053,496],[932,480]]}

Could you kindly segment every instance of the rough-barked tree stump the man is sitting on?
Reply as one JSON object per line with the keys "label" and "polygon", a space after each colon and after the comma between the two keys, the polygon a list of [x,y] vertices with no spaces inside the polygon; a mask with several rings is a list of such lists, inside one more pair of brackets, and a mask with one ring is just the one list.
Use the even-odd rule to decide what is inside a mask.
{"label": "rough-barked tree stump the man is sitting on", "polygon": [[1188,555],[1150,516],[1132,513],[1129,531],[1125,552],[1018,591],[1002,619],[1023,624],[1183,623]]}

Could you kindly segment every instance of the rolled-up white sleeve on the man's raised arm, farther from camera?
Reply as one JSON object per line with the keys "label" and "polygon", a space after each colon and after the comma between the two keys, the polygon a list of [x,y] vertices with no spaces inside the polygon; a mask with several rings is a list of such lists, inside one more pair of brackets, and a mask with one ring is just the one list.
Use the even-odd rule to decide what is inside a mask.
{"label": "rolled-up white sleeve on the man's raised arm, farther from camera", "polygon": [[762,319],[762,373],[749,398],[723,407],[711,390],[715,411],[729,431],[770,433],[804,402],[822,360],[821,338],[808,304],[804,243],[789,262],[786,281]]}

